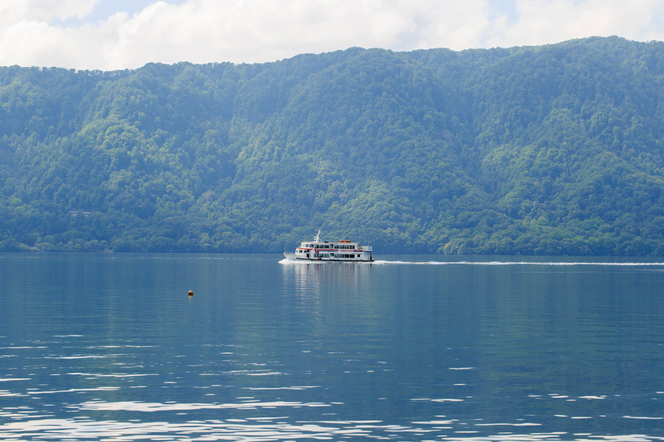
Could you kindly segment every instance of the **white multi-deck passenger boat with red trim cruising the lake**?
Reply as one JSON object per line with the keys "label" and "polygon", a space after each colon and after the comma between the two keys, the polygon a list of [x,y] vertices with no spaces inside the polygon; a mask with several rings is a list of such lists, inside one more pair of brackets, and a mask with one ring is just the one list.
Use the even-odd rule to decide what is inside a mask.
{"label": "white multi-deck passenger boat with red trim cruising the lake", "polygon": [[295,253],[285,251],[284,256],[287,260],[372,262],[374,251],[371,246],[362,246],[350,240],[323,241],[319,229],[313,241],[302,241]]}

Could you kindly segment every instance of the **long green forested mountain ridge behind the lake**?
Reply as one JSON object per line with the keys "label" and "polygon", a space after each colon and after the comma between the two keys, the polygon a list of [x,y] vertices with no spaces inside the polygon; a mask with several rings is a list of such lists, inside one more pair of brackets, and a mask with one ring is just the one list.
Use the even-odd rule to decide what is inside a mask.
{"label": "long green forested mountain ridge behind the lake", "polygon": [[664,255],[664,43],[0,68],[0,250]]}

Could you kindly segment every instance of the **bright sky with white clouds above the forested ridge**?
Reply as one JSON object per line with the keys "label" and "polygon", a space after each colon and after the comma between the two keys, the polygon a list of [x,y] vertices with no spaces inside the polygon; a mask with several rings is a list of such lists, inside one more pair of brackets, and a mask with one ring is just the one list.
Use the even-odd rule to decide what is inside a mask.
{"label": "bright sky with white clouds above the forested ridge", "polygon": [[0,66],[263,63],[353,46],[664,40],[664,0],[0,0]]}

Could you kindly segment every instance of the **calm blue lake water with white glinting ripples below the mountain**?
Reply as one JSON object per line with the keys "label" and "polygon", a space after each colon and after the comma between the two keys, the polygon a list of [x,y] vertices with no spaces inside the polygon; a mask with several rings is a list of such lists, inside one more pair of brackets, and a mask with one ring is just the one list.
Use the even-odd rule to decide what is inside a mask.
{"label": "calm blue lake water with white glinting ripples below the mountain", "polygon": [[664,260],[380,258],[0,254],[0,440],[664,439]]}

